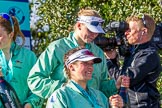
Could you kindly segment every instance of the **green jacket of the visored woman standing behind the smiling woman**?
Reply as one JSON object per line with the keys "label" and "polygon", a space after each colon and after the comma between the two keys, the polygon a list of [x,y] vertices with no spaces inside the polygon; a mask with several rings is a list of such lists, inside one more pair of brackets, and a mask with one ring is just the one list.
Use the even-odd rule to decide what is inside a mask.
{"label": "green jacket of the visored woman standing behind the smiling woman", "polygon": [[[64,54],[70,49],[78,47],[75,34],[52,42],[40,55],[28,76],[28,85],[31,91],[42,98],[48,98],[65,81]],[[102,62],[94,64],[92,79],[88,86],[101,90],[107,97],[117,92],[115,81],[108,79],[106,59],[102,49],[94,43],[87,43],[87,49],[95,56],[101,57]]]}

